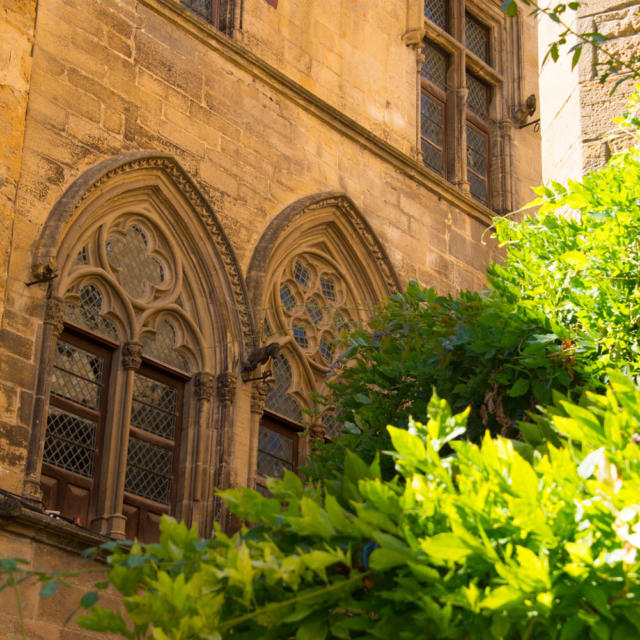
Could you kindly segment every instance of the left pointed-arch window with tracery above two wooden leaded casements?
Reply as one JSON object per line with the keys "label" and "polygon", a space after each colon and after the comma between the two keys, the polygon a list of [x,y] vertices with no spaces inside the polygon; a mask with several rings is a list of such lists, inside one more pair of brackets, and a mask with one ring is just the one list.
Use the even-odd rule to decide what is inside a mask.
{"label": "left pointed-arch window with tracery above two wooden leaded casements", "polygon": [[[61,270],[41,486],[47,509],[152,540],[182,490],[182,433],[202,336],[169,235],[135,213],[107,216]],[[116,527],[117,530],[117,527]]]}

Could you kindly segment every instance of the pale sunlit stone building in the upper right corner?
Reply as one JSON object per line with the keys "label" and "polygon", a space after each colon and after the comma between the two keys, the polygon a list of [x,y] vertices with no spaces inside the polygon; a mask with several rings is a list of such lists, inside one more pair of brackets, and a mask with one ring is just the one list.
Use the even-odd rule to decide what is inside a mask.
{"label": "pale sunlit stone building in the upper right corner", "polygon": [[[588,0],[582,2],[571,25],[578,33],[598,32],[608,38],[603,46],[616,56],[628,58],[640,48],[640,6],[631,0]],[[570,14],[565,14],[569,16]],[[550,20],[541,21],[539,47],[543,54],[559,33]],[[570,43],[573,44],[573,43]],[[634,90],[627,81],[611,94],[619,76],[605,83],[604,55],[585,47],[576,69],[571,57],[561,55],[556,64],[549,61],[540,73],[540,117],[542,165],[545,182],[566,182],[587,171],[599,169],[616,151],[630,144],[629,136],[613,124]]]}

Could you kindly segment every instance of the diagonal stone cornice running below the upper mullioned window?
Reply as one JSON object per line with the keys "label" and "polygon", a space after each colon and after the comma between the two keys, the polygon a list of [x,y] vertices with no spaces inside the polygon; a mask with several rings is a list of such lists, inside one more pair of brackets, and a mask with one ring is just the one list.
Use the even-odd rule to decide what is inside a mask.
{"label": "diagonal stone cornice running below the upper mullioned window", "polygon": [[427,169],[421,162],[389,144],[353,118],[305,89],[301,84],[278,71],[239,42],[225,36],[213,26],[192,15],[187,9],[182,8],[176,0],[139,1],[176,27],[189,33],[212,51],[314,115],[335,131],[402,171],[407,177],[437,197],[445,199],[483,224],[487,226],[491,224],[492,218],[496,215],[495,212],[482,206],[470,196],[461,193],[452,184]]}

